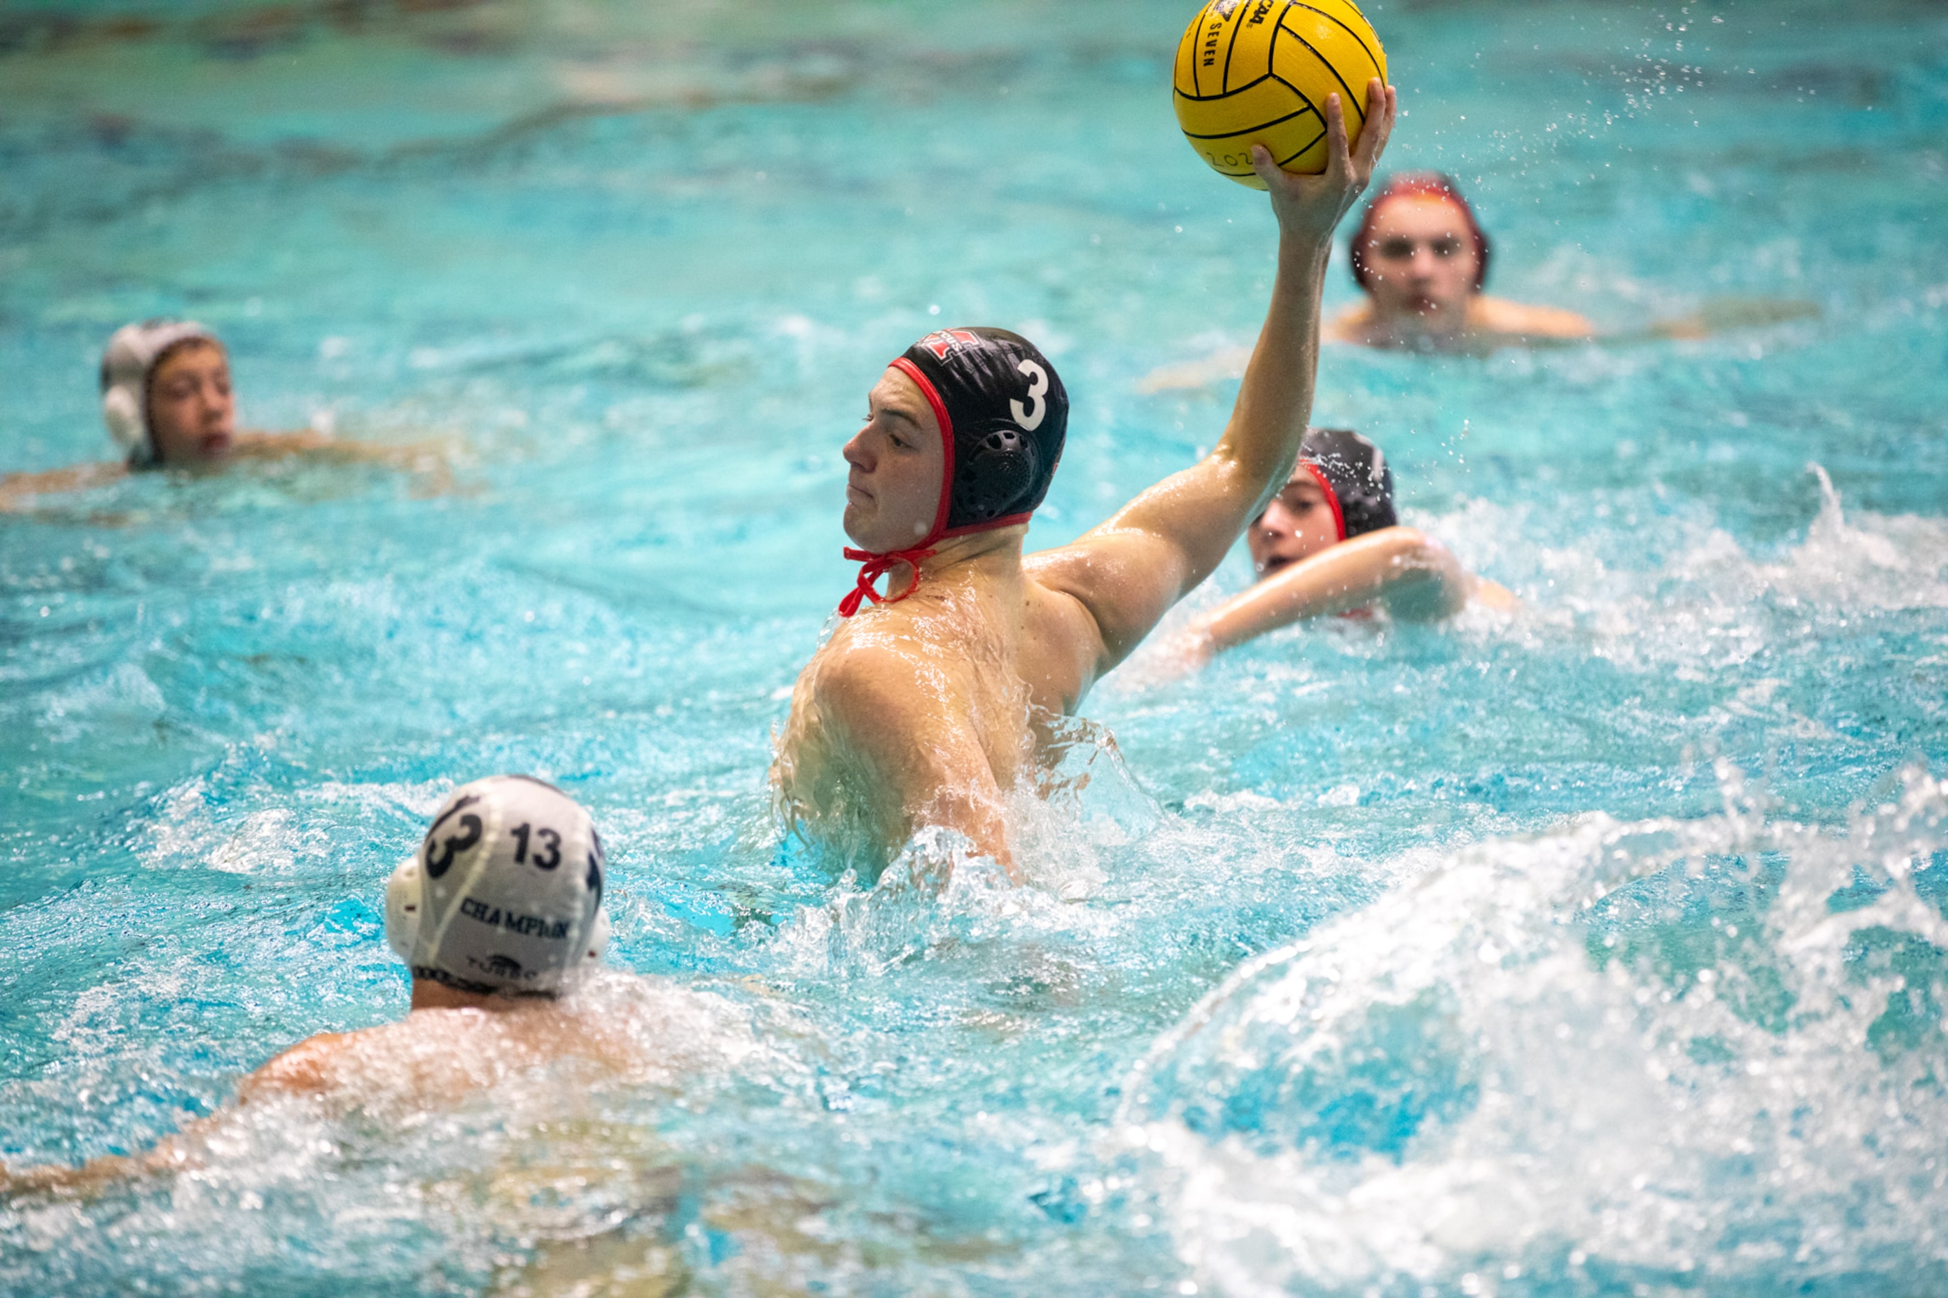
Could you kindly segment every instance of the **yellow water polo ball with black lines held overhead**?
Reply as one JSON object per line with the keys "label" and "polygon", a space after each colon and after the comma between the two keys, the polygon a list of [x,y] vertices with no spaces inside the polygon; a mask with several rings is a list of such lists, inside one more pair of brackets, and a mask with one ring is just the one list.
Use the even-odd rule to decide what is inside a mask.
{"label": "yellow water polo ball with black lines held overhead", "polygon": [[1366,127],[1366,84],[1387,82],[1387,51],[1352,0],[1210,0],[1177,45],[1177,125],[1219,175],[1264,189],[1251,146],[1288,172],[1327,170],[1327,95]]}

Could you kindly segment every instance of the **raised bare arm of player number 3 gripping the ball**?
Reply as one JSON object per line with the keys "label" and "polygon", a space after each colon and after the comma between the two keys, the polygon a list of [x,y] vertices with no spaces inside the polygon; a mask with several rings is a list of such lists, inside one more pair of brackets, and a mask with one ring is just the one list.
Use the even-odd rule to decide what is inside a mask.
{"label": "raised bare arm of player number 3 gripping the ball", "polygon": [[1029,559],[1030,575],[1073,594],[1097,620],[1105,657],[1120,663],[1157,620],[1204,581],[1286,481],[1313,409],[1319,290],[1332,230],[1373,175],[1393,131],[1395,92],[1367,82],[1366,129],[1348,152],[1338,95],[1327,95],[1327,170],[1282,172],[1253,146],[1251,160],[1278,216],[1278,273],[1258,345],[1218,448],[1122,507],[1071,546]]}

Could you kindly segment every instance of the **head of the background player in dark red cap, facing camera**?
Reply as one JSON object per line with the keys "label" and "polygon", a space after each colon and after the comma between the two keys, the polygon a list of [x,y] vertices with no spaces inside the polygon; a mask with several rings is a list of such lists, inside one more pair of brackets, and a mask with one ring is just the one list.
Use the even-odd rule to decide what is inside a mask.
{"label": "head of the background player in dark red cap, facing camera", "polygon": [[1488,236],[1455,183],[1438,172],[1389,179],[1352,236],[1352,277],[1381,320],[1459,331],[1488,281]]}

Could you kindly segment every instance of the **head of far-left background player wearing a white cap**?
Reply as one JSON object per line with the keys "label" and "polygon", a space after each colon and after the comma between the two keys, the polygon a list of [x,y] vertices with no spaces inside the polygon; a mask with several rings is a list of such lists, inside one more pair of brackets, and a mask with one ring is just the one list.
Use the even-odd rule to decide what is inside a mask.
{"label": "head of far-left background player wearing a white cap", "polygon": [[230,454],[230,357],[189,320],[144,320],[101,353],[101,417],[131,468],[206,464]]}

